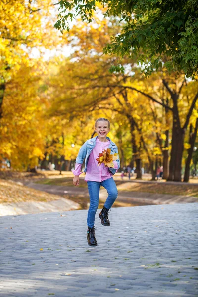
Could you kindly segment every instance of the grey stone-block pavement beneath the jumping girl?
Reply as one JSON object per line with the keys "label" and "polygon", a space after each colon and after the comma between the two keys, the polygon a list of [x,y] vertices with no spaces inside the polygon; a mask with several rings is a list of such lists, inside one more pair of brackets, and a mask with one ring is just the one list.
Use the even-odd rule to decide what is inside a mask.
{"label": "grey stone-block pavement beneath the jumping girl", "polygon": [[0,217],[1,297],[197,297],[198,203]]}

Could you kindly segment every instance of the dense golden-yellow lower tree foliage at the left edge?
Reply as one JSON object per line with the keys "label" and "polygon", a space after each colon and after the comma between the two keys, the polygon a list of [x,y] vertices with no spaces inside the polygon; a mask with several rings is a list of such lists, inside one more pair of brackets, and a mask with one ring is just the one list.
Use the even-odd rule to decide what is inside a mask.
{"label": "dense golden-yellow lower tree foliage at the left edge", "polygon": [[38,158],[43,158],[46,123],[45,104],[38,96],[40,80],[37,67],[24,65],[7,83],[0,126],[0,157],[8,158],[13,169],[32,169],[38,165]]}

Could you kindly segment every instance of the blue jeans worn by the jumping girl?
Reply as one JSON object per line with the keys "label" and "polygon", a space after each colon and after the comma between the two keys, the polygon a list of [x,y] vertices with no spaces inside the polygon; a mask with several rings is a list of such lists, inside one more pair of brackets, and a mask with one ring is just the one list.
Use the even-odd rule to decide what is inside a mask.
{"label": "blue jeans worn by the jumping girl", "polygon": [[103,186],[107,190],[108,197],[106,199],[106,202],[104,203],[104,206],[108,209],[110,209],[115,202],[118,191],[112,177],[102,182],[88,181],[87,185],[90,194],[90,208],[87,215],[87,225],[92,228],[94,226],[95,215],[99,206],[100,186]]}

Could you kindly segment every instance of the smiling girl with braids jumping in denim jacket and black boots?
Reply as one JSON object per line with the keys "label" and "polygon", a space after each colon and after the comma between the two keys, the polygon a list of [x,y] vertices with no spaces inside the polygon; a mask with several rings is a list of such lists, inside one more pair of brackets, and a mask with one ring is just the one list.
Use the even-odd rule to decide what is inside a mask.
{"label": "smiling girl with braids jumping in denim jacket and black boots", "polygon": [[[73,170],[73,174],[75,175],[73,183],[75,186],[78,186],[79,175],[82,173],[81,166],[85,159],[85,181],[87,181],[90,195],[90,207],[87,216],[87,240],[88,245],[90,246],[97,246],[95,237],[95,229],[97,228],[94,226],[94,221],[99,206],[100,186],[103,186],[108,193],[104,207],[99,214],[99,218],[101,219],[101,224],[103,226],[110,226],[108,212],[110,212],[110,208],[118,195],[116,184],[112,178],[112,175],[114,175],[117,169],[120,167],[119,156],[117,156],[116,161],[113,161],[114,167],[110,168],[105,167],[103,163],[98,166],[98,162],[96,160],[99,156],[99,153],[102,153],[102,151],[107,148],[110,148],[111,154],[118,153],[117,146],[110,140],[109,137],[107,137],[109,131],[109,120],[105,118],[99,118],[96,120],[94,133],[92,134],[91,139],[88,139],[80,148],[76,158],[75,170]],[[93,138],[95,133],[97,133],[98,136]]]}

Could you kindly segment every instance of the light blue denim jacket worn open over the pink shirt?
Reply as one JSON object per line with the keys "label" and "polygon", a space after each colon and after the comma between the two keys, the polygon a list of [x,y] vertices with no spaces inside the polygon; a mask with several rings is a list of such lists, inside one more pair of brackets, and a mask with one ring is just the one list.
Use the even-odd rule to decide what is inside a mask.
{"label": "light blue denim jacket worn open over the pink shirt", "polygon": [[[87,171],[87,164],[88,164],[88,160],[89,160],[89,156],[93,150],[93,148],[96,146],[96,139],[98,136],[88,139],[80,148],[78,156],[76,158],[76,163],[78,164],[83,164],[83,161],[85,159],[85,170],[84,172]],[[114,153],[118,153],[118,148],[116,146],[116,144],[114,144],[109,137],[106,137],[109,139],[110,144],[109,144],[109,148],[111,149],[111,154]],[[120,159],[119,156],[116,160],[117,164],[118,164],[118,169],[120,168]],[[112,174],[115,174],[116,172],[116,168],[109,168],[109,170],[111,171]]]}

